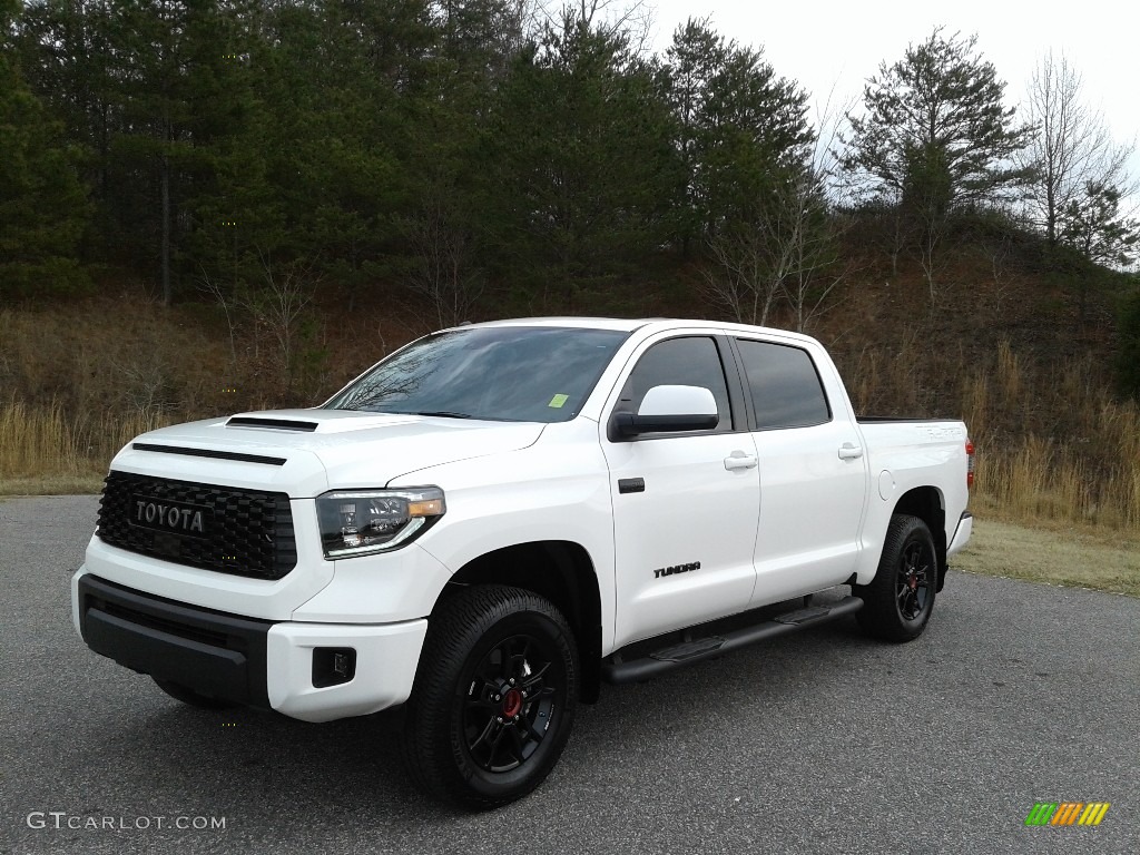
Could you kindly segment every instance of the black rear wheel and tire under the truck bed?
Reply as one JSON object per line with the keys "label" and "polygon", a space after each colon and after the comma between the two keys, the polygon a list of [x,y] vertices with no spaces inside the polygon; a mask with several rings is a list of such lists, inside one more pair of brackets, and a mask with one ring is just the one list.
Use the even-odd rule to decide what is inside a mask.
{"label": "black rear wheel and tire under the truck bed", "polygon": [[918,638],[934,611],[937,585],[938,553],[930,529],[918,516],[895,514],[874,578],[854,589],[863,600],[856,613],[860,626],[885,641]]}

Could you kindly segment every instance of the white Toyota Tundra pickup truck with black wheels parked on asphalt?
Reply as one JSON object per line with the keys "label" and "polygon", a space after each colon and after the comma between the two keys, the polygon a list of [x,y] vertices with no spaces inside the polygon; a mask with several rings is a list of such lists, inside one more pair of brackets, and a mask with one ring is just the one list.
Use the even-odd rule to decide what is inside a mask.
{"label": "white Toyota Tundra pickup truck with black wheels parked on asphalt", "polygon": [[917,637],[970,537],[971,461],[961,422],[857,420],[804,335],[464,325],[320,407],[130,442],[73,618],[195,706],[404,705],[413,777],[492,807],[602,681],[853,612]]}

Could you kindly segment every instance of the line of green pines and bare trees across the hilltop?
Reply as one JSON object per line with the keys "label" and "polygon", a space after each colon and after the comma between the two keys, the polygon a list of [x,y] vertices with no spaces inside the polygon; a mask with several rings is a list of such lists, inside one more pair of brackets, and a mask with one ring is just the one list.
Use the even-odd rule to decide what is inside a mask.
{"label": "line of green pines and bare trees across the hilltop", "polygon": [[727,314],[785,304],[803,328],[853,218],[931,298],[977,211],[1132,261],[1127,150],[1064,59],[1015,109],[976,40],[938,28],[828,138],[762,50],[691,19],[650,55],[614,10],[0,0],[0,296],[127,269],[166,303],[287,316],[319,279],[350,311],[398,280],[442,325],[491,288],[585,311],[666,255]]}

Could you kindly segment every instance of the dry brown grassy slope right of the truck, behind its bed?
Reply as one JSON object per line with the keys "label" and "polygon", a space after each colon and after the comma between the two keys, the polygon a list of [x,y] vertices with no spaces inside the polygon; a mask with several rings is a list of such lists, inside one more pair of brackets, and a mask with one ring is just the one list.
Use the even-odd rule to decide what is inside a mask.
{"label": "dry brown grassy slope right of the truck, behind its bed", "polygon": [[1140,531],[1140,407],[1115,399],[1104,360],[1040,345],[1027,356],[1000,337],[986,347],[940,323],[912,318],[889,340],[874,323],[837,336],[856,412],[962,418],[975,492],[1000,519]]}

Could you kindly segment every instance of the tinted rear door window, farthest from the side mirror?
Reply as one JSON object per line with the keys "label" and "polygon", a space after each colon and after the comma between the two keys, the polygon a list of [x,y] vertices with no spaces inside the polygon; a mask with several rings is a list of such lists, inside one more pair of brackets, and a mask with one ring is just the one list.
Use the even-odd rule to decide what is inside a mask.
{"label": "tinted rear door window, farthest from the side mirror", "polygon": [[831,421],[823,384],[806,350],[738,339],[757,430],[807,427]]}

